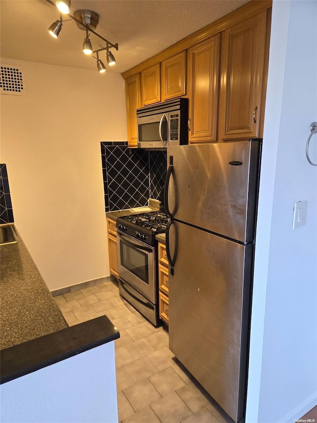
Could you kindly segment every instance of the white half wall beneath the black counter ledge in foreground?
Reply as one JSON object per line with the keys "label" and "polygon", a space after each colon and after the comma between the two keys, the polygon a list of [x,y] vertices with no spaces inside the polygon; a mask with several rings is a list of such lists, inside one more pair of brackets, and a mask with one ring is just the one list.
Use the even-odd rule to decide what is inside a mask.
{"label": "white half wall beneath the black counter ledge in foreground", "polygon": [[114,342],[3,383],[3,423],[118,421]]}

